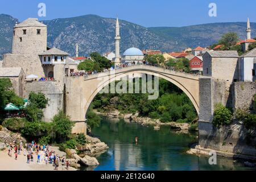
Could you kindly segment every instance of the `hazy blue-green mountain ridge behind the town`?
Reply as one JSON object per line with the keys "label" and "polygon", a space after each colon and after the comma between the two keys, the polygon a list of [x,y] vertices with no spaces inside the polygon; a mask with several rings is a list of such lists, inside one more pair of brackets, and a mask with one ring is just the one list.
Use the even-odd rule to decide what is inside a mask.
{"label": "hazy blue-green mountain ridge behind the town", "polygon": [[[0,55],[11,52],[12,28],[18,19],[0,14]],[[48,26],[48,46],[63,49],[75,55],[75,45],[79,43],[81,56],[90,52],[114,51],[115,19],[88,14],[71,18],[43,20]],[[216,43],[222,34],[229,31],[246,36],[246,22],[207,23],[183,27],[143,27],[119,19],[121,53],[127,48],[160,49],[165,52],[197,46],[207,47]],[[256,36],[256,23],[251,23],[252,38]],[[255,31],[254,31],[255,30]],[[1,59],[1,56],[0,56]]]}

